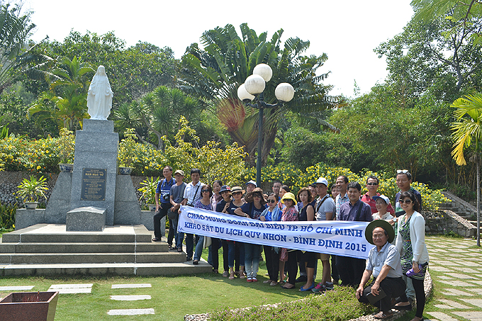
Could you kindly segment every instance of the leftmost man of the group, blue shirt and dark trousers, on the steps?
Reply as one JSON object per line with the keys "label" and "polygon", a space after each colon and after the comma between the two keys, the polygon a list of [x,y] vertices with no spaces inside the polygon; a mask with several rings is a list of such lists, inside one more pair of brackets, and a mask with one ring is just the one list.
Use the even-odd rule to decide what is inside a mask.
{"label": "leftmost man of the group, blue shirt and dark trousers, on the steps", "polygon": [[[153,217],[154,238],[152,239],[154,242],[159,242],[161,240],[161,220],[167,215],[167,210],[171,208],[171,202],[169,202],[169,192],[171,191],[171,187],[176,184],[176,181],[172,178],[172,167],[164,167],[164,169],[162,169],[162,175],[164,175],[164,179],[161,179],[159,183],[157,183],[155,194],[156,213]],[[169,238],[167,240],[169,243],[169,248],[172,247],[172,237],[174,237],[174,230],[171,232],[170,229],[171,225],[172,224],[169,224],[169,236],[172,236],[170,240]]]}

